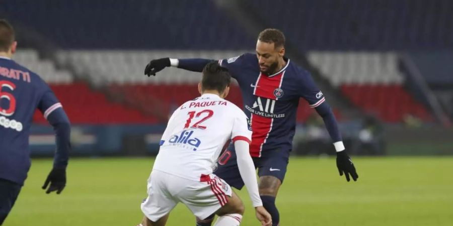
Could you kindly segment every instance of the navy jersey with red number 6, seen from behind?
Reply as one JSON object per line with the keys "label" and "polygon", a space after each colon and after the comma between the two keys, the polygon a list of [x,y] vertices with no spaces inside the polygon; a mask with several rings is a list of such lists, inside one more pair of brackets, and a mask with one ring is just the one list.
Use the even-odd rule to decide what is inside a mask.
{"label": "navy jersey with red number 6, seen from behind", "polygon": [[23,184],[30,168],[29,135],[38,108],[44,118],[61,107],[37,74],[0,57],[0,178]]}

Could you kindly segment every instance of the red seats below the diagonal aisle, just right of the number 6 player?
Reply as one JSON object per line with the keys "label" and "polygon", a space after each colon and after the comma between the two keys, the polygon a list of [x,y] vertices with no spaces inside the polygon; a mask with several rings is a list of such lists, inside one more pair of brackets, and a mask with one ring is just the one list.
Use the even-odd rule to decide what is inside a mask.
{"label": "red seats below the diagonal aisle, just right of the number 6 player", "polygon": [[[91,90],[85,83],[51,84],[57,98],[72,124],[138,124],[156,123],[152,115],[120,103],[109,102],[100,91]],[[40,111],[33,116],[34,123],[47,124]]]}

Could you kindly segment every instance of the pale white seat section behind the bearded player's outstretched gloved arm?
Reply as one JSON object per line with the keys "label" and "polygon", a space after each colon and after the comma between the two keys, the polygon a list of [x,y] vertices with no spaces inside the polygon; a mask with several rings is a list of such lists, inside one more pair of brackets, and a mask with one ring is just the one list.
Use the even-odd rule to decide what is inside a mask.
{"label": "pale white seat section behind the bearded player's outstretched gloved arm", "polygon": [[193,84],[200,80],[199,73],[167,68],[152,79],[143,75],[150,59],[235,57],[247,51],[132,51],[132,50],[69,50],[58,53],[61,63],[71,64],[78,74],[86,74],[95,83],[153,83]]}

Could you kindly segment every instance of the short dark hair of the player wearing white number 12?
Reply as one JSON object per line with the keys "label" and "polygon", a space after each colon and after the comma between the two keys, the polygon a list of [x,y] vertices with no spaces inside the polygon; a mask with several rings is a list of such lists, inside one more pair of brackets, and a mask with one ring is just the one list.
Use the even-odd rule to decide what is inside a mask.
{"label": "short dark hair of the player wearing white number 12", "polygon": [[210,62],[203,68],[201,79],[202,90],[217,90],[222,93],[226,86],[230,86],[231,74],[228,68],[220,66],[217,62]]}

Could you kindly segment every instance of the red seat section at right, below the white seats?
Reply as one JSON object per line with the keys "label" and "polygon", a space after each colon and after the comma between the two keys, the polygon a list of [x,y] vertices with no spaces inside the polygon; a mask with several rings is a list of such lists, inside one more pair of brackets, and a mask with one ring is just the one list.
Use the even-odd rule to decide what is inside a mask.
{"label": "red seat section at right, below the white seats", "polygon": [[406,116],[415,116],[423,121],[432,117],[423,105],[407,93],[401,85],[341,86],[342,92],[363,110],[376,114],[386,122],[401,122]]}

